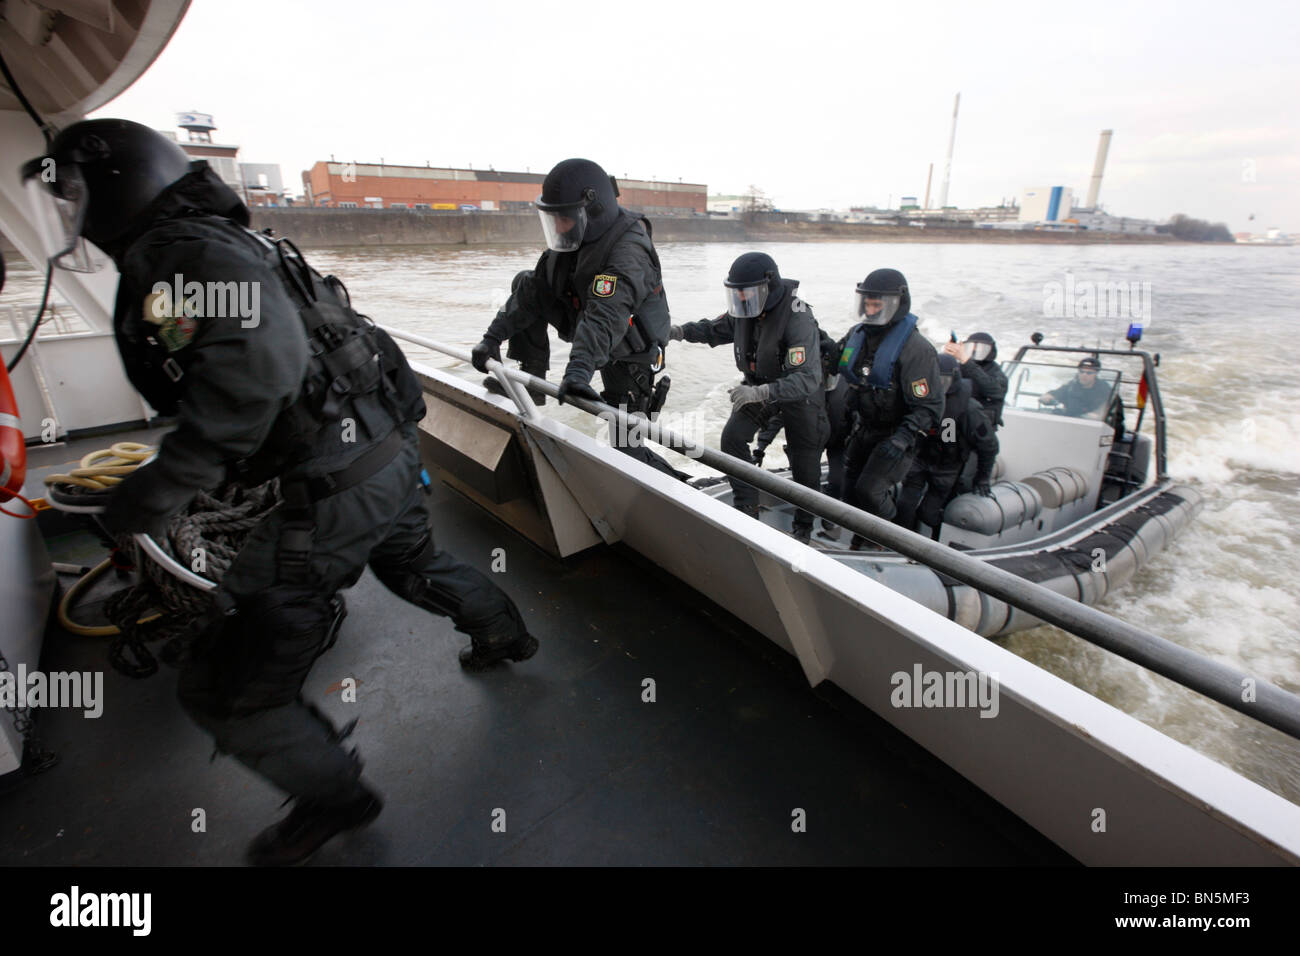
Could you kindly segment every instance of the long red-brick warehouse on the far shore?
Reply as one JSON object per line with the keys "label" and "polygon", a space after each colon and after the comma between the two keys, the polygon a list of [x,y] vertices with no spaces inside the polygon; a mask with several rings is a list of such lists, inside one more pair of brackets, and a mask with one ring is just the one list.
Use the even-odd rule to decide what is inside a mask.
{"label": "long red-brick warehouse on the far shore", "polygon": [[[530,209],[542,191],[541,173],[490,169],[316,163],[303,173],[311,206],[381,209]],[[619,179],[619,204],[659,216],[703,215],[708,189],[690,182]]]}

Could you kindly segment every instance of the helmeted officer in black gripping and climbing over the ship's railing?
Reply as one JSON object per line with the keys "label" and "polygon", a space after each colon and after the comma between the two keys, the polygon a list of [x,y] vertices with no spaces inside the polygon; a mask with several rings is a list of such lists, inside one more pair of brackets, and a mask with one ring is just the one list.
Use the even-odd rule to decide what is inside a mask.
{"label": "helmeted officer in black gripping and climbing over the ship's railing", "polygon": [[[564,160],[542,181],[537,212],[546,234],[546,252],[532,272],[511,284],[506,306],[473,349],[473,364],[488,371],[488,359],[507,355],[540,377],[550,368],[546,326],[572,342],[560,382],[568,395],[604,401],[628,411],[650,414],[654,377],[663,368],[668,341],[668,299],[663,293],[659,254],[650,239],[650,221],[619,206],[614,177],[590,160]],[[599,371],[604,392],[592,388]],[[489,380],[489,388],[497,388]],[[538,405],[545,397],[536,398]],[[616,445],[620,451],[676,477],[684,477],[647,447]]]}

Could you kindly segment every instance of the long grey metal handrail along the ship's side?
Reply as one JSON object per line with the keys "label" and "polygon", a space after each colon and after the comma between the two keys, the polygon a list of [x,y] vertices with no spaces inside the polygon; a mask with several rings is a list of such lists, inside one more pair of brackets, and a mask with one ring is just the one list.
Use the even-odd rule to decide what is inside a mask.
{"label": "long grey metal handrail along the ship's side", "polygon": [[[471,360],[469,352],[464,350],[452,349],[424,336],[400,329],[381,328],[394,338],[412,342],[465,363]],[[542,378],[536,378],[526,372],[506,368],[491,359],[488,362],[488,368],[498,377],[504,376],[516,385],[526,385],[533,392],[543,392],[556,398],[559,395],[559,389],[555,385]],[[519,392],[521,389],[512,389],[510,394],[515,403],[519,405],[520,414],[525,418],[534,418],[536,410],[532,407],[532,401],[526,395],[520,395]],[[962,584],[991,594],[1000,601],[1005,601],[1010,606],[1018,607],[1049,624],[1054,624],[1089,644],[1095,644],[1127,661],[1147,667],[1183,687],[1218,701],[1226,708],[1300,740],[1300,696],[1284,691],[1268,680],[1218,661],[1202,658],[1195,652],[1174,644],[1165,637],[1144,631],[1140,627],[1134,627],[1096,607],[1089,607],[1072,598],[1057,594],[1054,591],[1018,578],[1010,571],[1004,571],[978,558],[971,558],[928,537],[916,535],[876,515],[831,498],[822,492],[805,488],[788,479],[763,471],[749,462],[742,462],[738,458],[705,445],[697,445],[677,436],[671,429],[662,428],[658,423],[650,421],[642,415],[628,414],[603,402],[590,402],[584,398],[571,397],[568,402],[590,415],[604,419],[608,419],[612,414],[620,425],[627,428],[629,423],[633,424],[641,429],[642,434],[658,445],[702,460],[708,467],[716,468],[724,475],[740,479],[759,490],[790,502],[796,507],[801,507],[819,518],[824,518],[857,535],[890,548],[906,558],[920,562]],[[1252,696],[1253,700],[1243,700],[1247,696]]]}

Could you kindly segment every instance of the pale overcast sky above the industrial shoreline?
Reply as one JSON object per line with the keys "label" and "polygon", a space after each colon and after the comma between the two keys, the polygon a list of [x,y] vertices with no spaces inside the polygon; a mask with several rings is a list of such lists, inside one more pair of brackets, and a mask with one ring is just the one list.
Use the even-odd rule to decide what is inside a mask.
{"label": "pale overcast sky above the industrial shoreline", "polygon": [[[300,191],[316,160],[753,183],[779,207],[937,202],[1027,186],[1164,220],[1300,233],[1300,4],[194,0],[96,116],[212,113]],[[183,134],[182,134],[183,135]],[[1254,221],[1248,217],[1254,213]]]}

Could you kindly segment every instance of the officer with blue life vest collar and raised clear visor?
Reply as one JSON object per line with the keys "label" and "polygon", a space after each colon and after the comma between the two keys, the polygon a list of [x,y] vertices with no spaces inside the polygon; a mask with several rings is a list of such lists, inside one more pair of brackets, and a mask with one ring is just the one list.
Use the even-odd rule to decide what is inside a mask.
{"label": "officer with blue life vest collar and raised clear visor", "polygon": [[[893,486],[911,470],[916,442],[942,418],[939,355],[907,310],[907,280],[876,269],[857,287],[858,324],[840,342],[840,375],[854,416],[845,450],[842,498],[893,520]],[[853,546],[866,541],[854,535]]]}

